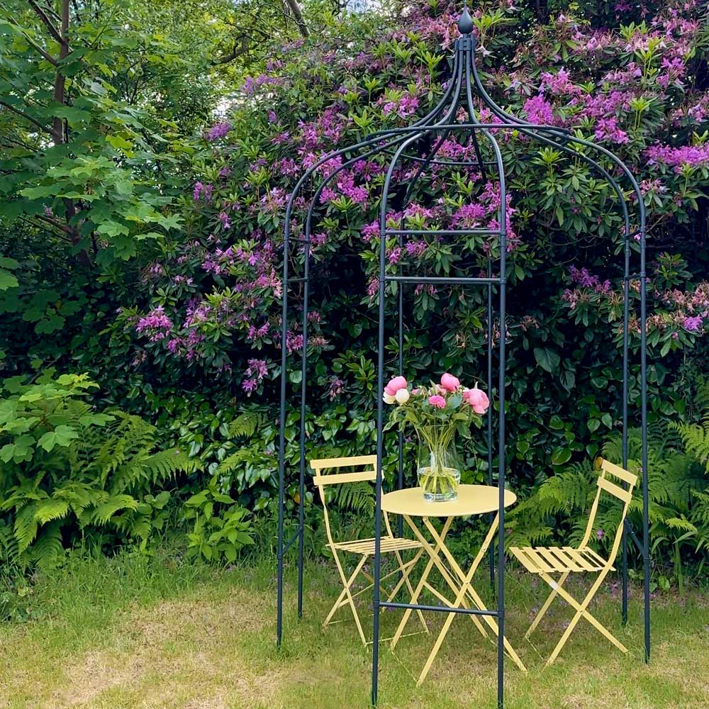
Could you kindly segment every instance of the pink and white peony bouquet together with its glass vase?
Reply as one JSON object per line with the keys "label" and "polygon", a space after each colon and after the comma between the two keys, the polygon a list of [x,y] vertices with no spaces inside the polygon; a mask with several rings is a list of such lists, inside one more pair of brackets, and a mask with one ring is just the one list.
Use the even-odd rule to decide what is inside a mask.
{"label": "pink and white peony bouquet together with its glass vase", "polygon": [[460,463],[455,435],[470,437],[471,426],[480,428],[489,398],[477,384],[461,386],[452,374],[440,384],[411,389],[403,376],[395,376],[384,387],[384,402],[396,406],[386,428],[411,426],[418,437],[418,485],[425,500],[442,502],[458,496]]}

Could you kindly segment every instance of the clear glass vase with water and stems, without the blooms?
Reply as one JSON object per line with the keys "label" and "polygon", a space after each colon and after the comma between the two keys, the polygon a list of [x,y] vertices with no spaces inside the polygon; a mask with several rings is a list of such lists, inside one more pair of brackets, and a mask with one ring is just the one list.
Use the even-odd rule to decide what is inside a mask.
{"label": "clear glass vase with water and stems, without the blooms", "polygon": [[424,500],[455,500],[460,485],[460,458],[454,435],[420,435],[416,472]]}

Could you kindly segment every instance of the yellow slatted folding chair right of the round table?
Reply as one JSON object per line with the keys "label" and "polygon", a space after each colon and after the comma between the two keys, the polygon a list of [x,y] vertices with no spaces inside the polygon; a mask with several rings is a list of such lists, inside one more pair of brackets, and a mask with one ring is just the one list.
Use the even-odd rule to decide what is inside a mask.
{"label": "yellow slatted folding chair right of the round table", "polygon": [[[512,547],[510,549],[510,552],[514,554],[527,571],[540,576],[552,588],[552,593],[549,594],[549,598],[547,598],[545,604],[542,605],[539,613],[537,613],[537,617],[532,621],[532,625],[530,625],[529,630],[527,630],[525,634],[527,639],[532,635],[535,627],[539,625],[540,620],[542,620],[542,617],[549,609],[549,606],[552,605],[552,601],[554,601],[556,596],[561,596],[566,603],[569,603],[572,608],[576,609],[576,615],[574,615],[571,623],[566,627],[564,635],[562,635],[561,640],[557,643],[557,647],[554,648],[554,652],[552,652],[547,660],[547,666],[557,659],[557,655],[562,647],[564,647],[566,640],[569,640],[571,631],[574,630],[574,627],[576,627],[576,624],[579,623],[581,618],[586,618],[588,623],[591,623],[601,635],[607,637],[620,651],[627,652],[627,648],[623,643],[613,637],[596,618],[593,618],[593,615],[588,613],[587,608],[588,604],[591,603],[591,599],[596,594],[596,591],[601,587],[603,579],[608,575],[608,572],[615,571],[613,561],[618,555],[618,547],[620,547],[620,541],[623,538],[623,523],[625,522],[627,509],[630,506],[632,489],[637,484],[637,476],[602,458],[596,460],[596,467],[601,471],[598,475],[598,491],[596,491],[596,498],[593,500],[593,505],[591,506],[591,513],[588,515],[588,525],[586,525],[584,538],[581,540],[578,549],[572,549],[571,547],[534,547],[533,549],[532,547]],[[608,475],[626,483],[627,489],[608,479]],[[601,492],[610,493],[610,495],[613,495],[623,502],[623,514],[620,515],[620,524],[618,525],[618,530],[615,532],[613,547],[610,549],[608,559],[603,559],[603,557],[597,554],[591,547],[588,547],[588,540],[591,538],[591,531],[593,530],[593,522],[596,519],[598,500],[601,498]],[[596,581],[594,581],[593,586],[591,586],[591,590],[588,591],[586,598],[584,598],[581,603],[578,603],[576,599],[563,588],[564,581],[566,581],[566,578],[571,573],[598,574]],[[555,581],[552,574],[561,574],[561,576]]]}

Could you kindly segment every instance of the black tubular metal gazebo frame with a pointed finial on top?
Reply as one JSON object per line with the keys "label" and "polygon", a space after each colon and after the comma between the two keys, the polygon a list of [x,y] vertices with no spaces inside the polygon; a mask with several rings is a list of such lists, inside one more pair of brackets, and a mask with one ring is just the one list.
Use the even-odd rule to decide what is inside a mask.
{"label": "black tubular metal gazebo frame with a pointed finial on top", "polygon": [[[623,216],[624,225],[624,308],[623,308],[623,403],[622,403],[622,426],[623,426],[623,467],[627,467],[628,457],[628,408],[629,408],[629,370],[630,370],[630,347],[629,347],[629,321],[630,321],[630,281],[639,281],[640,287],[640,425],[642,443],[642,537],[639,539],[630,523],[625,525],[623,532],[622,546],[622,614],[623,623],[627,622],[627,537],[637,545],[642,554],[644,564],[644,657],[646,661],[650,656],[650,625],[649,625],[649,529],[648,529],[648,490],[647,490],[647,342],[646,342],[646,274],[645,274],[645,213],[644,202],[640,191],[630,169],[613,152],[600,145],[591,143],[588,140],[577,137],[569,130],[553,125],[539,125],[527,123],[520,118],[510,115],[493,101],[484,88],[476,67],[476,40],[473,33],[474,23],[467,10],[464,9],[458,21],[460,36],[455,40],[452,72],[450,80],[447,82],[445,93],[440,102],[432,110],[412,123],[406,128],[391,128],[374,133],[367,140],[355,145],[350,145],[341,150],[330,152],[321,160],[313,164],[298,180],[292,192],[285,215],[284,227],[284,263],[283,263],[283,311],[282,311],[282,332],[281,332],[281,403],[279,414],[279,520],[278,520],[278,554],[277,554],[277,643],[281,644],[283,632],[283,573],[284,556],[286,552],[297,542],[297,566],[298,566],[298,618],[303,613],[303,542],[304,542],[304,514],[303,505],[305,499],[306,486],[306,395],[308,387],[308,297],[310,294],[310,259],[311,259],[311,233],[313,230],[313,216],[316,205],[323,190],[331,184],[333,180],[343,170],[350,168],[357,160],[369,158],[377,155],[389,157],[389,164],[386,169],[384,186],[381,190],[381,206],[379,217],[379,343],[377,348],[377,373],[378,373],[378,408],[376,413],[376,515],[375,515],[375,553],[374,553],[374,642],[372,647],[372,704],[376,704],[379,677],[379,615],[382,608],[419,608],[426,611],[440,611],[442,613],[486,613],[496,618],[498,632],[498,707],[503,706],[504,690],[504,622],[505,622],[505,508],[503,505],[503,492],[506,478],[506,458],[505,458],[505,377],[506,377],[506,246],[508,240],[508,223],[506,215],[506,179],[501,150],[495,133],[514,130],[518,135],[525,136],[525,140],[535,141],[554,147],[555,150],[571,155],[578,160],[584,161],[605,179],[615,192],[618,198],[618,206]],[[475,97],[475,98],[474,98]],[[479,118],[480,111],[476,108],[484,106],[492,116],[494,122],[482,122]],[[459,121],[459,111],[464,111],[467,118]],[[469,145],[470,152],[474,158],[464,155],[460,160],[437,160],[437,154],[442,143],[448,136],[462,136],[465,143]],[[483,143],[484,141],[484,143]],[[482,143],[482,145],[481,145]],[[483,146],[488,146],[491,160],[484,160]],[[407,152],[411,150],[412,152]],[[597,160],[603,160],[612,167],[607,169],[599,164],[597,160],[589,157],[588,153],[596,153]],[[354,157],[350,157],[354,156]],[[309,206],[307,216],[303,224],[302,236],[298,238],[291,235],[291,217],[294,210],[296,198],[305,191],[311,178],[316,175],[318,168],[333,158],[344,158],[339,167],[333,169],[319,183],[309,187]],[[500,207],[496,228],[461,228],[461,229],[411,229],[406,228],[406,218],[401,218],[398,228],[392,228],[388,223],[388,203],[394,191],[396,191],[396,175],[398,165],[401,161],[411,161],[418,167],[413,174],[408,176],[408,187],[403,196],[402,205],[406,205],[413,193],[413,187],[418,183],[425,170],[432,165],[447,165],[450,167],[479,167],[482,174],[489,170],[494,174],[498,184],[500,194]],[[633,224],[630,217],[629,200],[626,198],[618,180],[611,174],[611,171],[620,179],[625,179],[625,184],[630,187],[628,194],[633,197],[637,209],[637,223]],[[403,210],[403,206],[402,206]],[[386,242],[387,238],[398,237],[400,243],[406,236],[418,235],[433,238],[466,238],[473,235],[484,235],[498,240],[498,259],[496,263],[493,259],[493,250],[489,250],[487,257],[487,272],[477,277],[427,277],[424,275],[393,275],[386,269]],[[639,252],[639,269],[632,272],[631,255],[634,245],[637,244]],[[291,247],[294,245],[302,247],[303,269],[300,274],[291,274],[289,270],[289,260],[291,258]],[[298,471],[298,527],[296,532],[284,539],[284,479],[286,473],[286,450],[285,450],[285,428],[286,428],[286,400],[287,391],[287,355],[286,331],[288,329],[289,318],[289,288],[293,284],[301,284],[302,300],[298,306],[302,308],[301,332],[303,335],[303,345],[301,351],[301,400],[300,400],[300,454]],[[379,595],[380,579],[380,544],[381,537],[381,488],[382,488],[382,457],[384,453],[384,409],[381,401],[381,393],[384,389],[384,350],[385,350],[385,300],[387,284],[397,284],[398,296],[398,374],[403,373],[403,304],[404,286],[428,285],[428,286],[466,286],[471,288],[484,289],[487,301],[487,391],[493,394],[493,311],[498,318],[501,336],[497,347],[498,373],[497,373],[497,401],[498,421],[496,430],[497,442],[497,484],[499,488],[499,528],[497,547],[497,608],[496,610],[475,610],[468,608],[450,608],[447,605],[432,606],[410,603],[393,603],[382,601]],[[489,484],[493,483],[493,407],[487,414],[487,439],[488,439],[488,476]],[[403,441],[401,435],[398,436],[398,488],[403,486]],[[399,520],[401,525],[401,520]],[[401,526],[400,526],[401,530]],[[493,578],[494,566],[491,557],[491,578]]]}

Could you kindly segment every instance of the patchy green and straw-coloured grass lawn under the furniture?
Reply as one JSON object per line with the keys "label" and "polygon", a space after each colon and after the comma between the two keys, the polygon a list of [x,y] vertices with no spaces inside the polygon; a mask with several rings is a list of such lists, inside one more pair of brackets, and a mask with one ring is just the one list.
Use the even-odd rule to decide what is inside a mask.
{"label": "patchy green and straw-coloured grass lawn under the furniture", "polygon": [[[0,625],[2,709],[340,709],[367,707],[371,652],[352,620],[320,623],[339,592],[330,565],[310,562],[306,612],[286,586],[285,639],[274,647],[274,564],[217,571],[168,558],[74,557],[38,579],[33,620]],[[509,709],[703,709],[709,707],[709,597],[654,602],[652,662],[642,661],[637,589],[620,627],[617,594],[599,591],[592,612],[630,648],[624,656],[581,621],[557,664],[543,669],[571,611],[555,603],[533,644],[523,639],[544,588],[511,571],[508,638],[530,672],[506,663]],[[484,572],[478,588],[486,586]],[[574,588],[576,597],[581,588]],[[343,609],[340,613],[345,613]],[[366,616],[366,610],[363,609]],[[384,613],[391,635],[398,613]],[[365,620],[369,620],[365,618]],[[433,629],[440,614],[430,614]],[[369,629],[369,622],[367,622]],[[421,688],[415,677],[433,642],[381,646],[379,706],[453,709],[496,706],[496,651],[468,618],[453,624]]]}

